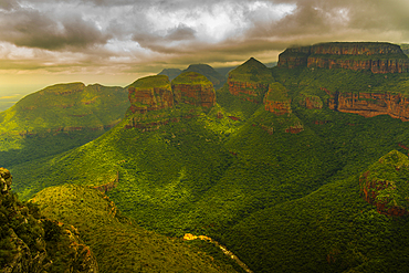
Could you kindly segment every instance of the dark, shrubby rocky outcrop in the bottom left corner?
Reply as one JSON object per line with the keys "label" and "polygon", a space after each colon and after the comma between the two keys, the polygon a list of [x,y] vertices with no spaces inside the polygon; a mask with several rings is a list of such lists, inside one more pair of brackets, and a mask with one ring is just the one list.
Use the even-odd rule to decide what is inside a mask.
{"label": "dark, shrubby rocky outcrop in the bottom left corner", "polygon": [[10,191],[11,183],[10,171],[0,168],[0,271],[97,273],[96,259],[77,230],[43,218],[31,202],[20,202]]}

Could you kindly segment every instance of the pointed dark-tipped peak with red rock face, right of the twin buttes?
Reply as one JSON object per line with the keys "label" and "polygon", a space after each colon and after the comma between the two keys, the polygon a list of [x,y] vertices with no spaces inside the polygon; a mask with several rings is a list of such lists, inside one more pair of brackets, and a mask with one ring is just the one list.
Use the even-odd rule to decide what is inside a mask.
{"label": "pointed dark-tipped peak with red rock face, right of the twin buttes", "polygon": [[228,77],[229,92],[253,103],[263,102],[272,82],[271,71],[253,57],[231,71]]}

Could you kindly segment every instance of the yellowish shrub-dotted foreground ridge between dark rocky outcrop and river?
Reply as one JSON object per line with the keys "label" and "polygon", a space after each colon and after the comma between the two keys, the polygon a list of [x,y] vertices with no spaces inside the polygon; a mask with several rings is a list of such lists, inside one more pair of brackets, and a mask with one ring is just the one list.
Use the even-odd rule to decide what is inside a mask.
{"label": "yellowish shrub-dotted foreground ridge between dark rocky outcrop and river", "polygon": [[33,200],[46,217],[78,229],[94,251],[101,272],[235,272],[180,239],[132,224],[106,196],[94,189],[51,187]]}

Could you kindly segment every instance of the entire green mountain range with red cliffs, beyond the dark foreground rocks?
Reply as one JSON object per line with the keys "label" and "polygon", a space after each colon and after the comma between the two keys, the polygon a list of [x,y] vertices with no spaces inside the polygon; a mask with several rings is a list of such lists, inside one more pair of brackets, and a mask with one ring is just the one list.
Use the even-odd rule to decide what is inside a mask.
{"label": "entire green mountain range with red cliffs, beyond the dark foreground rocks", "polygon": [[106,95],[51,86],[0,113],[1,164],[101,272],[406,272],[408,70],[399,45],[334,42],[224,80],[200,64]]}

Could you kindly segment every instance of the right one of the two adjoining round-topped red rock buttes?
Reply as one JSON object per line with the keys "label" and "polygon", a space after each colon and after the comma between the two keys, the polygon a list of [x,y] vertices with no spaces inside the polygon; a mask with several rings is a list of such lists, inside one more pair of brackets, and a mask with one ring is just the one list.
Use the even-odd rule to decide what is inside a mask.
{"label": "right one of the two adjoining round-topped red rock buttes", "polygon": [[216,104],[213,84],[196,72],[185,72],[171,82],[175,103],[211,108]]}

